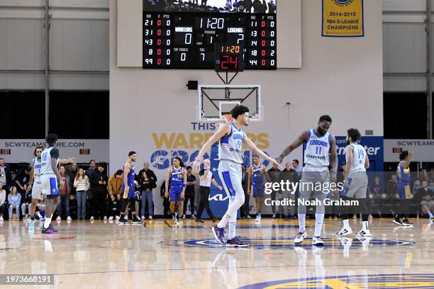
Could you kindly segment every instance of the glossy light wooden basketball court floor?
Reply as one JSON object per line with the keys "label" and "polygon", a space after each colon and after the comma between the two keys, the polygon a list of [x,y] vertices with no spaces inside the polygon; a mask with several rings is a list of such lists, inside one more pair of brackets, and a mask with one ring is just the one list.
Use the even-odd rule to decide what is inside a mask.
{"label": "glossy light wooden basketball court floor", "polygon": [[[29,234],[26,222],[0,222],[1,274],[55,274],[55,285],[0,288],[434,288],[434,225],[370,221],[370,239],[333,237],[341,222],[325,220],[323,249],[294,246],[296,220],[241,220],[249,249],[226,249],[211,222],[182,227],[152,220],[53,222],[57,235]],[[357,232],[360,219],[350,220]],[[306,222],[312,237],[313,220]]]}

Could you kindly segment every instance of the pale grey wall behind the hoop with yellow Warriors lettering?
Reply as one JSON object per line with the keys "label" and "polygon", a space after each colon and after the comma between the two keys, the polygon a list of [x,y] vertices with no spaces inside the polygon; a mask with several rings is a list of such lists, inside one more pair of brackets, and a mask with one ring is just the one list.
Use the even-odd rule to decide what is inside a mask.
{"label": "pale grey wall behind the hoop with yellow Warriors lettering", "polygon": [[[126,2],[110,1],[111,171],[121,167],[128,151],[134,149],[137,166],[150,161],[160,185],[169,157],[179,154],[189,163],[200,149],[198,144],[214,131],[214,125],[199,128],[195,124],[198,96],[197,91],[187,90],[187,81],[221,81],[212,71],[117,67],[116,6],[134,1]],[[130,21],[141,23],[140,19]],[[382,136],[381,1],[365,0],[364,38],[321,37],[321,1],[302,1],[301,21],[301,69],[246,71],[233,82],[262,86],[265,122],[251,123],[247,132],[272,156],[279,155],[303,130],[313,128],[325,113],[333,118],[330,132],[334,135],[345,135],[347,128],[355,127]],[[286,31],[287,25],[283,18],[277,29]],[[130,41],[128,35],[123,35],[123,41]],[[293,158],[302,159],[301,149],[285,161]]]}

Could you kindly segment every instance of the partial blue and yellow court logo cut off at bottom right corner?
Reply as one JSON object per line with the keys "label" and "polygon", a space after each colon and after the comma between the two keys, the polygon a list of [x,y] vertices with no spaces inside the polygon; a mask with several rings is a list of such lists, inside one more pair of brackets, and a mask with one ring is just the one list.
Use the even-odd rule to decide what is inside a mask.
{"label": "partial blue and yellow court logo cut off at bottom right corner", "polygon": [[277,280],[238,289],[271,288],[434,288],[434,274],[381,274]]}

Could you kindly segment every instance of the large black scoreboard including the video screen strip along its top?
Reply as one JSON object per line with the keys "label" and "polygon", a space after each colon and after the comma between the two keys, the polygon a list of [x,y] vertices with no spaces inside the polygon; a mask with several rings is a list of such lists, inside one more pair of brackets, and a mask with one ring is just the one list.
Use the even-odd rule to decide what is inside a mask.
{"label": "large black scoreboard including the video screen strip along its top", "polygon": [[[277,69],[275,1],[252,6],[250,11],[226,1],[193,2],[143,2],[144,69],[216,69],[220,58],[216,45],[228,43],[241,50],[238,55],[219,55],[221,71]],[[235,59],[236,67],[231,63]]]}

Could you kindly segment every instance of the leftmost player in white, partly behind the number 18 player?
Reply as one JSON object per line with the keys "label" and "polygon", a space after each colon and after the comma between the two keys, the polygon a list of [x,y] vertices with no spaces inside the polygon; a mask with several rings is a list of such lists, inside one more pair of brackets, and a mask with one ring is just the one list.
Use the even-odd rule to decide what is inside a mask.
{"label": "leftmost player in white, partly behind the number 18 player", "polygon": [[44,150],[44,147],[35,147],[33,154],[35,155],[35,159],[32,159],[30,162],[30,167],[32,171],[30,171],[30,181],[29,190],[32,190],[32,204],[30,205],[30,221],[28,223],[29,231],[35,228],[35,210],[38,205],[38,201],[43,198],[42,195],[42,185],[40,183],[40,171],[42,169],[42,163],[40,156]]}

